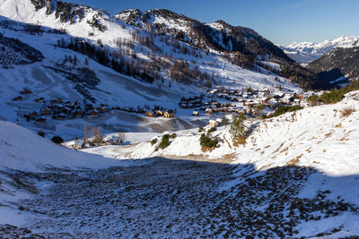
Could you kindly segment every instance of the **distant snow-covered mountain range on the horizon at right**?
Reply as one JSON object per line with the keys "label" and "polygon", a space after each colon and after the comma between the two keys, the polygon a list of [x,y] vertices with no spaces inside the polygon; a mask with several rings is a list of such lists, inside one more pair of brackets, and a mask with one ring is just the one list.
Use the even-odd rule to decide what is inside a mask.
{"label": "distant snow-covered mountain range on the horizon at right", "polygon": [[321,55],[328,53],[336,47],[358,47],[359,37],[340,37],[323,42],[294,42],[289,45],[280,46],[286,55],[294,61],[302,64],[309,64],[320,58]]}

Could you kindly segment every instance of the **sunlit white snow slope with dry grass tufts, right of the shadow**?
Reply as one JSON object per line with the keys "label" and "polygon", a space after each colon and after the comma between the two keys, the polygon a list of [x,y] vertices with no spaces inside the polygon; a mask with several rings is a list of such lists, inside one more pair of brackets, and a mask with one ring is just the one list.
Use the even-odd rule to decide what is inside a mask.
{"label": "sunlit white snow slope with dry grass tufts, right of the shadow", "polygon": [[[157,151],[156,145],[152,146],[149,141],[126,147],[83,150],[114,158],[202,155],[215,159],[234,154],[233,164],[252,163],[258,170],[295,162],[297,166],[310,166],[330,176],[356,175],[359,174],[358,99],[359,92],[355,91],[334,105],[306,107],[295,113],[248,122],[255,130],[244,147],[232,146],[229,126],[222,126],[214,132],[214,136],[222,140],[220,147],[210,152],[201,150],[201,133],[195,129],[193,136],[188,135],[188,131],[176,132],[178,136],[170,146]],[[343,117],[341,112],[345,108],[352,108],[354,112]],[[150,139],[150,136],[146,138]]]}

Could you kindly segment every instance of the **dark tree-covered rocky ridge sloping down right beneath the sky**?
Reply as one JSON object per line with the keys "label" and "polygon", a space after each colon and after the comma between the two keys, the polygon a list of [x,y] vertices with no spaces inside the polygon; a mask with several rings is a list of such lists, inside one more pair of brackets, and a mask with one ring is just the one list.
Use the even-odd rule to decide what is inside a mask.
{"label": "dark tree-covered rocky ridge sloping down right beneath the sky", "polygon": [[249,28],[234,27],[224,21],[202,23],[166,9],[153,9],[144,13],[130,9],[118,13],[116,18],[153,34],[171,35],[206,51],[215,49],[223,53],[223,57],[232,64],[246,69],[253,69],[256,65],[268,68],[260,61],[276,62],[281,65],[281,71],[275,73],[299,83],[303,88],[328,88],[325,81],[295,64],[283,50]]}

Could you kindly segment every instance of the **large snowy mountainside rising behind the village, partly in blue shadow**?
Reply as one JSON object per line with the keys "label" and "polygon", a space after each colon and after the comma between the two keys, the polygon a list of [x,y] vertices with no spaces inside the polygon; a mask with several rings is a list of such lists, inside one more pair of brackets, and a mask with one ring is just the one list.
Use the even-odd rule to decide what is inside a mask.
{"label": "large snowy mountainside rising behind the village, partly in blue shadow", "polygon": [[[163,14],[163,10],[158,11],[149,13]],[[104,132],[179,130],[198,125],[197,120],[180,119],[190,115],[179,107],[182,97],[199,96],[219,86],[293,92],[301,90],[295,82],[309,88],[317,84],[253,30],[226,26],[222,33],[218,29],[223,22],[200,26],[215,34],[214,38],[226,38],[227,30],[233,36],[244,30],[245,35],[238,38],[247,38],[250,48],[258,45],[260,52],[268,53],[267,57],[256,58],[256,51],[246,48],[241,54],[228,52],[223,47],[230,45],[221,48],[212,40],[199,47],[197,43],[202,41],[195,42],[197,37],[192,41],[171,30],[138,28],[123,22],[125,19],[119,21],[118,16],[78,4],[0,0],[0,15],[0,119],[35,131],[41,129],[48,137],[61,132],[65,139],[73,139],[83,134],[85,121],[101,124]],[[187,19],[179,15],[172,18]],[[172,24],[172,29],[181,26],[171,19],[163,19],[162,23],[169,28]],[[212,38],[205,30],[200,32],[197,36]],[[281,77],[282,73],[293,73],[293,69],[298,70],[296,78]],[[56,103],[52,113],[47,112],[48,107],[56,107],[52,101],[57,98],[62,102]],[[74,110],[74,104],[78,110]],[[90,112],[92,107],[94,112]],[[176,110],[179,117],[163,124],[158,119],[128,114],[138,111],[144,115],[144,110],[154,107]],[[99,108],[125,111],[111,111],[112,115],[97,118]],[[94,117],[81,117],[84,111]],[[64,120],[64,114],[74,115]]]}

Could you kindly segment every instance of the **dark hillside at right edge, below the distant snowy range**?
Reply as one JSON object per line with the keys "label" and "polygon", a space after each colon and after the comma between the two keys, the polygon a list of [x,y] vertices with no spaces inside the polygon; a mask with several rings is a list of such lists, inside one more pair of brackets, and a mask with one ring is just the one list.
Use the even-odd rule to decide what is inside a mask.
{"label": "dark hillside at right edge, below the distant snowy range", "polygon": [[359,47],[338,47],[308,64],[307,68],[327,81],[359,80],[358,65]]}

